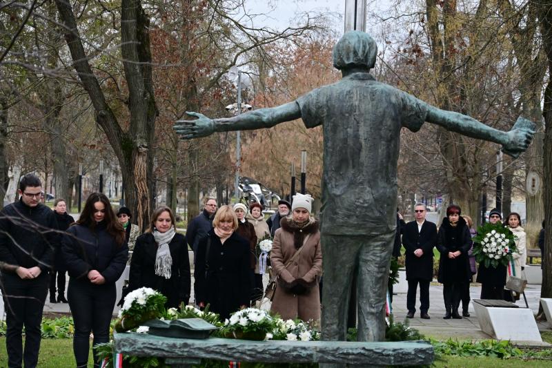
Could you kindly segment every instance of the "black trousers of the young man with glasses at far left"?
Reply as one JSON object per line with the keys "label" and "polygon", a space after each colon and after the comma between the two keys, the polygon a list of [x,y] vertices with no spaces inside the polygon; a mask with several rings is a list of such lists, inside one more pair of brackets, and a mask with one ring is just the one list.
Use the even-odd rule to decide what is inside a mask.
{"label": "black trousers of the young man with glasses at far left", "polygon": [[[22,280],[15,273],[4,273],[2,296],[6,308],[6,349],[8,367],[37,367],[40,350],[40,324],[48,293],[48,272],[38,278]],[[25,349],[21,331],[25,327]]]}

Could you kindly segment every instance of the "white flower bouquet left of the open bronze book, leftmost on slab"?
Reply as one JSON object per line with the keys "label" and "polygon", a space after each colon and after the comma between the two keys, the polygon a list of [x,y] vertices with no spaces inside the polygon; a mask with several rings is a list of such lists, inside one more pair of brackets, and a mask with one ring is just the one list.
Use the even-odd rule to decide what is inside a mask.
{"label": "white flower bouquet left of the open bronze book, leftmost on slab", "polygon": [[125,297],[115,322],[115,331],[125,332],[134,329],[148,320],[159,318],[164,311],[167,298],[148,287],[130,291]]}

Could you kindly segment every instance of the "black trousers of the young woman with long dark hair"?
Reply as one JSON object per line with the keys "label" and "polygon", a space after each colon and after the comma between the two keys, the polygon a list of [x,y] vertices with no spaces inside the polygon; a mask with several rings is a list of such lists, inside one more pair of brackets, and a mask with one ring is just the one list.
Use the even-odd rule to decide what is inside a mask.
{"label": "black trousers of the young woman with long dark hair", "polygon": [[[94,333],[92,351],[96,355],[95,345],[109,342],[109,325],[111,322],[117,290],[115,282],[95,285],[88,280],[70,278],[67,290],[69,307],[75,323],[73,352],[77,367],[86,367],[90,332]],[[94,367],[99,363],[94,358]]]}

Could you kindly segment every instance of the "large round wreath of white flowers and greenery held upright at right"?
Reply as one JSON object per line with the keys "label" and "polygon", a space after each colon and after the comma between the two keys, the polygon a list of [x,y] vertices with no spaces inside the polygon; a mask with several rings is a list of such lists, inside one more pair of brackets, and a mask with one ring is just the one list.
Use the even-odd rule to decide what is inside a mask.
{"label": "large round wreath of white flowers and greenery held upright at right", "polygon": [[477,236],[473,238],[475,260],[485,267],[507,266],[513,253],[517,252],[515,239],[507,227],[487,222],[477,229]]}

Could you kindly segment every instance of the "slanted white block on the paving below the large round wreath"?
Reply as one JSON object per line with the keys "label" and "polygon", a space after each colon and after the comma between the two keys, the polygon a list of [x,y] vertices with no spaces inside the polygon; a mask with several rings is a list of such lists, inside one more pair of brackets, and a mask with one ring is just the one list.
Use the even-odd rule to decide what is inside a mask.
{"label": "slanted white block on the paving below the large round wreath", "polygon": [[497,340],[542,342],[533,317],[526,308],[484,307],[473,303],[481,330]]}

